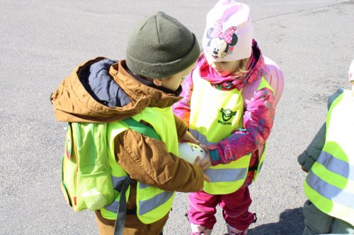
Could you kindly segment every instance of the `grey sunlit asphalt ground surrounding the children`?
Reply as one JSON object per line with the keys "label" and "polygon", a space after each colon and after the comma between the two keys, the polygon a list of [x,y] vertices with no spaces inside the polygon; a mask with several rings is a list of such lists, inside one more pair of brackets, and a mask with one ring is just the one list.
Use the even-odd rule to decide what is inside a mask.
{"label": "grey sunlit asphalt ground surrounding the children", "polygon": [[[282,100],[258,180],[250,186],[258,221],[249,234],[302,234],[305,173],[297,164],[326,118],[326,100],[350,88],[352,1],[243,1],[255,39],[285,75]],[[65,123],[50,93],[96,56],[123,59],[138,20],[164,11],[201,42],[215,0],[0,0],[0,234],[98,234],[93,213],[75,213],[59,188]],[[177,193],[164,234],[188,234],[187,194]],[[220,210],[213,234],[224,234]]]}

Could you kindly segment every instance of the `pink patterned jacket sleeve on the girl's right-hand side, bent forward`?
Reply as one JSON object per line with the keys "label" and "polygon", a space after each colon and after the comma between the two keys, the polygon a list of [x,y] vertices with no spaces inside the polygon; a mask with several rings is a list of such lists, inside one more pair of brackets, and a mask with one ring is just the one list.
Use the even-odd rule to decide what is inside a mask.
{"label": "pink patterned jacket sleeve on the girl's right-hand side, bent forward", "polygon": [[273,92],[263,88],[255,92],[246,104],[244,128],[238,129],[229,137],[210,147],[212,165],[227,164],[244,155],[254,152],[268,139],[275,118],[275,99]]}

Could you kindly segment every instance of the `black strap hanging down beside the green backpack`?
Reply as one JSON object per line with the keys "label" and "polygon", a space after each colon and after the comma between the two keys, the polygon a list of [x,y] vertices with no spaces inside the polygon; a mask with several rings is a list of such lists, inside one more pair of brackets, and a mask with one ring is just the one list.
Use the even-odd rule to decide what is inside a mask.
{"label": "black strap hanging down beside the green backpack", "polygon": [[[135,180],[131,179],[130,176],[120,183],[120,199],[119,205],[117,209],[117,219],[115,219],[114,225],[114,235],[122,235],[125,224],[125,216],[127,215],[127,198],[125,198],[125,192],[127,191],[128,186],[131,183],[135,182]],[[118,186],[120,188],[120,186]]]}

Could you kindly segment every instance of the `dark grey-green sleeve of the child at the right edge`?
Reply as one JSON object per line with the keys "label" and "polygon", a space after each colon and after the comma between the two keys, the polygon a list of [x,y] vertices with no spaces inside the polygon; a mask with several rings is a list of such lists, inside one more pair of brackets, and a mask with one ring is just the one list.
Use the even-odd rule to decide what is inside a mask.
{"label": "dark grey-green sleeve of the child at the right edge", "polygon": [[304,169],[311,169],[316,159],[321,154],[322,148],[324,147],[324,141],[326,140],[326,123],[324,123],[319,132],[314,137],[314,140],[307,146],[307,149],[302,152],[299,157],[297,157],[297,162],[304,167]]}

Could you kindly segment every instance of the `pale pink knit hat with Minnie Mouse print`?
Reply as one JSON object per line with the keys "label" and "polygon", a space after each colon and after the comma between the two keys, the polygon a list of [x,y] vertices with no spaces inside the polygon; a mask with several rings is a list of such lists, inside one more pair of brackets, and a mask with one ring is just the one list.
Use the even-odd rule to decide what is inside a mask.
{"label": "pale pink knit hat with Minnie Mouse print", "polygon": [[207,13],[202,48],[211,61],[237,61],[252,52],[253,27],[249,6],[232,0],[219,0]]}

